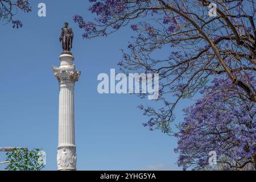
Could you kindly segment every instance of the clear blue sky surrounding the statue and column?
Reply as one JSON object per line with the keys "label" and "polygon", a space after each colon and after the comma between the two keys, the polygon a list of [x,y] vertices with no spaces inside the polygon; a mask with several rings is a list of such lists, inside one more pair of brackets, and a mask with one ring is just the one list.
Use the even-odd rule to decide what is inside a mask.
{"label": "clear blue sky surrounding the statue and column", "polygon": [[[37,15],[40,2],[47,6],[43,18]],[[122,58],[119,49],[126,49],[131,40],[130,28],[108,38],[83,40],[72,16],[93,18],[87,0],[31,3],[31,13],[16,16],[22,20],[22,28],[16,30],[3,22],[0,25],[0,147],[43,148],[47,154],[45,169],[56,170],[59,88],[51,66],[59,65],[60,30],[64,22],[69,22],[75,32],[72,53],[82,72],[75,89],[77,169],[179,169],[173,151],[176,139],[142,126],[147,117],[137,106],[156,105],[155,101],[97,92],[98,74],[109,74],[110,68],[118,70]],[[181,121],[181,110],[188,104],[177,107],[177,121]]]}

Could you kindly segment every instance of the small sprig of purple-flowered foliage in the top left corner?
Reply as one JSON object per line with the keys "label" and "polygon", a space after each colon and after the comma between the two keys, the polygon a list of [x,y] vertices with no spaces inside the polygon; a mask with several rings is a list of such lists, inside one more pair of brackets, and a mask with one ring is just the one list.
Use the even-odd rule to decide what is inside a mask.
{"label": "small sprig of purple-flowered foliage in the top left corner", "polygon": [[14,16],[18,11],[29,13],[31,6],[28,0],[0,0],[0,20],[6,23],[12,23],[13,28],[22,27],[22,22],[18,19],[14,19]]}

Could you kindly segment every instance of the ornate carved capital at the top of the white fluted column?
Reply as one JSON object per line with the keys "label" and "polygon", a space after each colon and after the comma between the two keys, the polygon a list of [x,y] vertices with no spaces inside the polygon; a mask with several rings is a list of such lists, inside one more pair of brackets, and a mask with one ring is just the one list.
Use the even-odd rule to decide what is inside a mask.
{"label": "ornate carved capital at the top of the white fluted column", "polygon": [[54,76],[61,82],[76,82],[81,75],[80,71],[76,71],[75,65],[71,65],[67,68],[52,67]]}

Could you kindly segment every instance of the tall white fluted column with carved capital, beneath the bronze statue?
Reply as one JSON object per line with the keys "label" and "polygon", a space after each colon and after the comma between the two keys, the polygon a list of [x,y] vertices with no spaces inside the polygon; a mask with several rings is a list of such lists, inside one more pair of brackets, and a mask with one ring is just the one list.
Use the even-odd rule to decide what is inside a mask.
{"label": "tall white fluted column with carved capital, beneath the bronze statue", "polygon": [[72,55],[60,55],[60,67],[52,67],[59,81],[59,145],[57,167],[59,171],[76,170],[74,88],[81,72],[76,71]]}

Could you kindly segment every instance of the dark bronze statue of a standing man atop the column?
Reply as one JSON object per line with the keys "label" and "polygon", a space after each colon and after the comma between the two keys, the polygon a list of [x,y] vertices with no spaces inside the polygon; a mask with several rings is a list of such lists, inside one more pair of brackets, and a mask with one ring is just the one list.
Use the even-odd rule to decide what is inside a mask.
{"label": "dark bronze statue of a standing man atop the column", "polygon": [[61,28],[60,42],[62,42],[62,48],[64,53],[71,54],[73,31],[68,27],[68,23],[65,23],[65,27]]}

